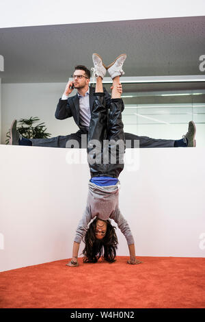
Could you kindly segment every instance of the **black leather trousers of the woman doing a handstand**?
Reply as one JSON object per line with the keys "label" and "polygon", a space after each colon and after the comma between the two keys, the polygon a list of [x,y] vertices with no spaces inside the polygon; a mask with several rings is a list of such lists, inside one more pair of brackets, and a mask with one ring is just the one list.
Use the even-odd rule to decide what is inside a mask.
{"label": "black leather trousers of the woman doing a handstand", "polygon": [[91,177],[118,177],[124,168],[125,150],[122,99],[111,99],[107,120],[105,94],[98,92],[94,96],[87,135],[87,160],[90,174]]}

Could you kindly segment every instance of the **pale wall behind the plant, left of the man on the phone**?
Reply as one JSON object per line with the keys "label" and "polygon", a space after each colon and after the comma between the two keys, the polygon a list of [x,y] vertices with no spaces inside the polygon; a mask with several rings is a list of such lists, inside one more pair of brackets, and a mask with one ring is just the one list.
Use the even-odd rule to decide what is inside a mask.
{"label": "pale wall behind the plant, left of the man on the phone", "polygon": [[[38,116],[45,123],[46,132],[52,136],[77,132],[79,128],[73,118],[55,119],[56,106],[65,86],[64,83],[2,84],[1,144],[5,144],[6,133],[13,119],[31,116]],[[75,95],[76,91],[73,93]]]}

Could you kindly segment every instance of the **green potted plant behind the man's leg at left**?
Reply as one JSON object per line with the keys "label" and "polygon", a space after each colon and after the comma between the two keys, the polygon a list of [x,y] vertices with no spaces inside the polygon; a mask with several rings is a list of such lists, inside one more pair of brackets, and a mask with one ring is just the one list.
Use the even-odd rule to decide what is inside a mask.
{"label": "green potted plant behind the man's leg at left", "polygon": [[[51,136],[51,133],[46,133],[46,126],[45,123],[40,123],[36,126],[33,126],[33,123],[36,123],[40,121],[38,117],[31,116],[30,119],[20,119],[17,121],[16,128],[18,129],[18,132],[22,134],[25,138],[49,138]],[[5,144],[8,145],[10,140],[10,131],[6,134],[7,139],[5,140]]]}

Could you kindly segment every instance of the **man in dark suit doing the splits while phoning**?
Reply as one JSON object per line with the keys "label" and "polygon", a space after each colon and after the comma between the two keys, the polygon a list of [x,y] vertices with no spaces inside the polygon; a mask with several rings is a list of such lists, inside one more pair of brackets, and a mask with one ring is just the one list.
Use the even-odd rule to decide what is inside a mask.
{"label": "man in dark suit doing the splits while phoning", "polygon": [[[83,65],[74,67],[72,81],[66,85],[62,97],[57,103],[55,117],[59,120],[64,120],[73,117],[75,123],[79,127],[76,133],[68,134],[67,136],[55,136],[53,138],[31,138],[26,139],[20,136],[16,130],[16,120],[12,123],[10,129],[10,144],[11,145],[33,145],[39,147],[87,147],[87,132],[90,125],[92,106],[94,102],[94,88],[89,86],[90,70]],[[76,88],[77,94],[70,96],[72,90]],[[105,101],[107,111],[109,111],[111,96],[103,88],[105,92]],[[122,93],[122,85],[118,86],[118,90]],[[124,106],[122,108],[124,110]],[[180,140],[162,140],[149,138],[148,136],[137,136],[135,134],[124,133],[126,147],[195,147],[195,124],[189,122],[189,128],[186,135]]]}

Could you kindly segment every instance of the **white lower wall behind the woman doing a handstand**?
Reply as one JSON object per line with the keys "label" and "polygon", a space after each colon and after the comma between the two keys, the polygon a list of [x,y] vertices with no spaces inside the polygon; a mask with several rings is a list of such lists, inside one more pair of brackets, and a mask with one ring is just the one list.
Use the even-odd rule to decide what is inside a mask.
{"label": "white lower wall behind the woman doing a handstand", "polygon": [[[0,150],[0,271],[70,258],[87,198],[85,149]],[[84,164],[68,164],[77,153]],[[204,157],[200,148],[126,151],[120,209],[138,256],[205,257]],[[117,234],[118,255],[128,256]]]}

